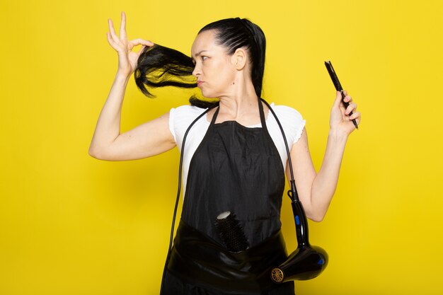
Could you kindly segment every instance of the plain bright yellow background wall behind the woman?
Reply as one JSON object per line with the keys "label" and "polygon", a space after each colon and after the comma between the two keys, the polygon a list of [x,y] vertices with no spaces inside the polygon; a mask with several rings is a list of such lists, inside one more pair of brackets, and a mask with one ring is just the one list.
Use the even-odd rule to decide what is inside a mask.
{"label": "plain bright yellow background wall behind the woman", "polygon": [[[362,112],[326,219],[311,243],[330,255],[297,294],[442,294],[443,1],[0,2],[0,294],[158,294],[178,151],[139,161],[88,156],[117,69],[107,19],[130,39],[190,54],[227,17],[267,36],[264,97],[304,116],[320,168],[335,90],[330,59]],[[151,100],[131,79],[122,132],[187,103]],[[294,250],[289,199],[284,235]]]}

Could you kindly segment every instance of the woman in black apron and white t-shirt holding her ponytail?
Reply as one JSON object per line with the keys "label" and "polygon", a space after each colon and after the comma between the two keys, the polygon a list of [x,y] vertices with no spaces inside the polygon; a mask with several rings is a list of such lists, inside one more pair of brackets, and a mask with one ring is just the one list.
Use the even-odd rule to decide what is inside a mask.
{"label": "woman in black apron and white t-shirt holding her ponytail", "polygon": [[[280,231],[287,154],[282,133],[260,99],[265,35],[243,18],[209,23],[200,30],[191,57],[143,39],[127,40],[125,13],[120,37],[109,20],[108,42],[118,69],[100,113],[89,154],[108,161],[155,156],[178,146],[192,121],[183,153],[183,213],[162,282],[161,294],[294,294],[293,282],[272,284],[270,267],[287,258]],[[142,45],[139,52],[132,48]],[[159,118],[120,134],[125,88],[135,71],[137,86],[198,86],[205,98],[173,108]],[[190,79],[191,78],[191,79]],[[323,164],[316,173],[305,120],[297,110],[271,105],[290,144],[299,199],[306,216],[321,221],[338,182],[347,137],[361,115],[350,96],[344,108],[336,93]],[[353,115],[349,115],[353,112]],[[248,250],[226,248],[214,221],[232,212]]]}

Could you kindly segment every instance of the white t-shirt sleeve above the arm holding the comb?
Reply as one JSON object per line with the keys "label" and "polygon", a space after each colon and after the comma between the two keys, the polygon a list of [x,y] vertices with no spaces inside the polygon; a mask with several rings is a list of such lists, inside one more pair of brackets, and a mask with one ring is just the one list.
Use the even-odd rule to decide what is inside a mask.
{"label": "white t-shirt sleeve above the arm holding the comb", "polygon": [[278,105],[276,107],[278,116],[283,121],[284,133],[289,137],[287,139],[288,143],[292,142],[292,144],[295,144],[301,137],[301,132],[303,132],[304,126],[306,125],[306,120],[304,120],[300,112],[294,108],[286,105]]}

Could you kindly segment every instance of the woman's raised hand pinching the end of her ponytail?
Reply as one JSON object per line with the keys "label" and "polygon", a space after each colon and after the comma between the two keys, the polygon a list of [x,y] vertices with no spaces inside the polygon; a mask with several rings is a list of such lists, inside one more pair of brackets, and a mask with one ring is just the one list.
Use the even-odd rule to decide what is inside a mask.
{"label": "woman's raised hand pinching the end of her ponytail", "polygon": [[[109,30],[106,32],[109,44],[114,48],[118,54],[118,70],[121,74],[125,76],[130,76],[137,68],[137,60],[140,54],[146,46],[153,46],[154,43],[148,40],[143,40],[140,38],[134,40],[127,40],[126,35],[126,15],[122,11],[122,22],[120,23],[120,37],[117,36],[114,30],[113,21],[108,19]],[[142,45],[139,52],[132,52],[132,48],[137,45]]]}

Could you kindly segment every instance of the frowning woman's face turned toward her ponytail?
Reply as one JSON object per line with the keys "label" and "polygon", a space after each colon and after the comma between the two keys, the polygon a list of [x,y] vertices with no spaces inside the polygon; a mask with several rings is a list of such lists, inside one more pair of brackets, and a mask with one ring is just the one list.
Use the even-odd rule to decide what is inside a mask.
{"label": "frowning woman's face turned toward her ponytail", "polygon": [[236,68],[226,48],[215,42],[214,30],[206,30],[195,37],[191,48],[197,86],[206,98],[219,98],[233,92]]}

